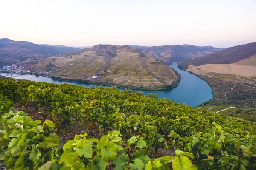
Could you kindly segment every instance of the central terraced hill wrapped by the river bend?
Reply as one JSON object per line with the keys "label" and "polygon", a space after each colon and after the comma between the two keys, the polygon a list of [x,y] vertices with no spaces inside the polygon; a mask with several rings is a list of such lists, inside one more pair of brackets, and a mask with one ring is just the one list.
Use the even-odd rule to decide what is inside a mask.
{"label": "central terraced hill wrapped by the river bend", "polygon": [[163,88],[178,79],[177,73],[163,61],[146,57],[128,45],[95,45],[69,54],[47,57],[29,67],[34,67],[35,71],[51,71],[50,76],[61,79],[89,80],[134,88]]}

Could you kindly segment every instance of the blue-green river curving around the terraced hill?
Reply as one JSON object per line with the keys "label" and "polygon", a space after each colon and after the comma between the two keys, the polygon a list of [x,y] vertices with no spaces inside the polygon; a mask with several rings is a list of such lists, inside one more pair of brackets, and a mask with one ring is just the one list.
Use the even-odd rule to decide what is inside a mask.
{"label": "blue-green river curving around the terraced hill", "polygon": [[[161,90],[161,91],[143,91],[146,95],[149,93],[157,94],[158,98],[166,97],[169,100],[173,100],[178,103],[186,103],[186,105],[191,105],[195,107],[200,105],[202,102],[205,102],[212,98],[212,89],[204,80],[199,77],[191,74],[187,71],[183,71],[177,67],[178,63],[174,62],[170,67],[175,69],[180,75],[181,80],[179,85],[176,88],[169,90]],[[2,74],[3,75],[3,74]],[[7,77],[11,77],[8,75]],[[108,87],[104,85],[95,85],[92,83],[81,83],[81,82],[68,82],[61,80],[53,80],[48,77],[36,77],[35,75],[12,75],[12,78],[15,79],[27,79],[36,82],[49,82],[49,83],[68,83],[73,85],[82,85],[84,87]],[[119,88],[120,90],[124,90],[124,88]]]}

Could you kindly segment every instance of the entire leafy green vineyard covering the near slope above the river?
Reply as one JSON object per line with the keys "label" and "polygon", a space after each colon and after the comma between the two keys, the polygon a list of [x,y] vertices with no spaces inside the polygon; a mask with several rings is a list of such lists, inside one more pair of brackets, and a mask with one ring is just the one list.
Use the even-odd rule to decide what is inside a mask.
{"label": "entire leafy green vineyard covering the near slope above the river", "polygon": [[[114,88],[12,79],[0,87],[0,158],[10,169],[256,169],[254,122]],[[88,135],[58,147],[54,124],[7,113],[14,103],[40,107],[59,132],[79,121]],[[176,156],[150,159],[163,147]]]}

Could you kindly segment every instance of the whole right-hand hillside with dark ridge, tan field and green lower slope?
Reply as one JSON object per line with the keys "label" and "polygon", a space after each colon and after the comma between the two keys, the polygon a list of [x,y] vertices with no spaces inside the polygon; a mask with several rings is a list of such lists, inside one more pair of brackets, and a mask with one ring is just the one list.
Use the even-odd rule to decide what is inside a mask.
{"label": "whole right-hand hillside with dark ridge, tan field and green lower slope", "polygon": [[256,107],[256,43],[180,62],[179,66],[211,85],[215,95],[203,106]]}

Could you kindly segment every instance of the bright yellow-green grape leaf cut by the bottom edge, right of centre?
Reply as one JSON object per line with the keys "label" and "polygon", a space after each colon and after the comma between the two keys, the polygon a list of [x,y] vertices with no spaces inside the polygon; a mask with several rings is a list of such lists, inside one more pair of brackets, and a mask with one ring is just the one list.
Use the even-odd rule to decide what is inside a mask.
{"label": "bright yellow-green grape leaf cut by the bottom edge, right of centre", "polygon": [[186,156],[176,157],[172,161],[173,170],[197,170],[197,168],[192,164]]}

